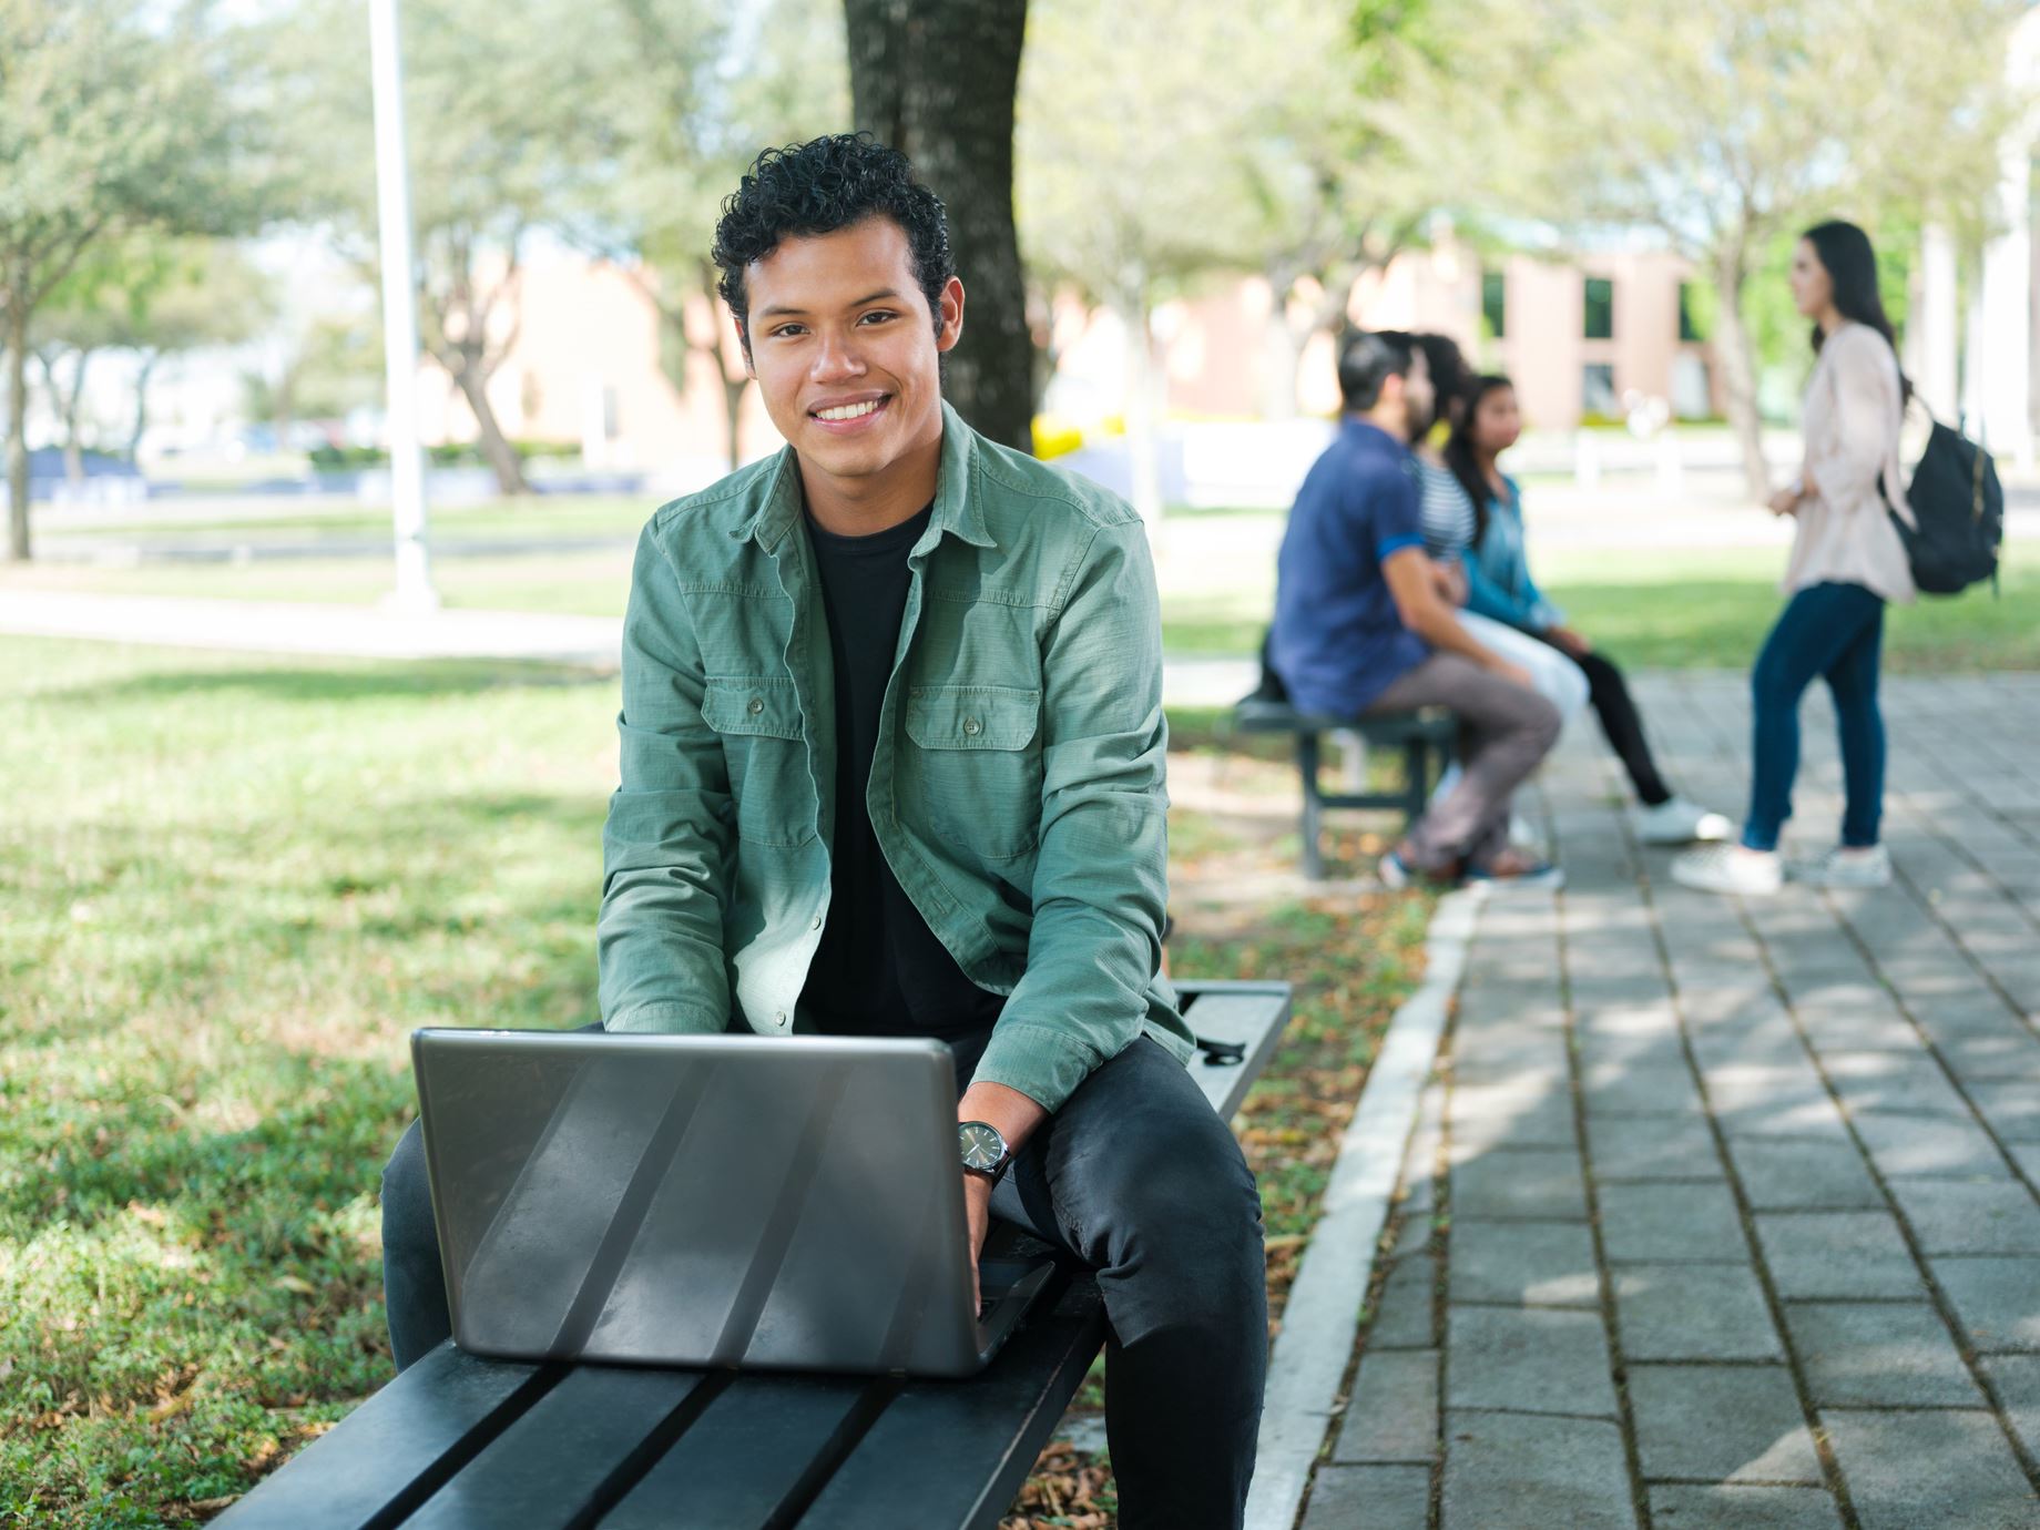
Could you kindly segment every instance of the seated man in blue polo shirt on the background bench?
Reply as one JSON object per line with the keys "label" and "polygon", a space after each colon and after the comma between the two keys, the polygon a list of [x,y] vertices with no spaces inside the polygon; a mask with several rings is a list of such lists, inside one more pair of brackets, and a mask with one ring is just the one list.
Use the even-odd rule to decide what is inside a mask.
{"label": "seated man in blue polo shirt on the background bench", "polygon": [[1434,422],[1424,353],[1410,335],[1353,335],[1338,392],[1338,439],[1312,465],[1283,532],[1275,671],[1306,712],[1444,706],[1459,716],[1459,785],[1383,857],[1383,881],[1559,885],[1557,867],[1508,843],[1510,798],[1557,743],[1559,708],[1522,667],[1469,636],[1424,555],[1410,455]]}

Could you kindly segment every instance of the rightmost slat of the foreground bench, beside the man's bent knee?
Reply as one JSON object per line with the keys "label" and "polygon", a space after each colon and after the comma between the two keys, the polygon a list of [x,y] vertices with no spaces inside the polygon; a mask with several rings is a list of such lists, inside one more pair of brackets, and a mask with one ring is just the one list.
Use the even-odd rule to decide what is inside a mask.
{"label": "rightmost slat of the foreground bench, beside the man's bent knee", "polygon": [[991,1530],[1106,1342],[1089,1279],[969,1381],[908,1381],[800,1518],[802,1530]]}

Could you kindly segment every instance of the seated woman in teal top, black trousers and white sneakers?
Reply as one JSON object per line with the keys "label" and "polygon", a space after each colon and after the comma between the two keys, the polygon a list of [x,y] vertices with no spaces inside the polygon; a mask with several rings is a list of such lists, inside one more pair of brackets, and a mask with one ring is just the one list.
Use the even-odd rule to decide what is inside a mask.
{"label": "seated woman in teal top, black trousers and white sneakers", "polygon": [[1565,612],[1544,600],[1530,577],[1522,490],[1495,461],[1520,435],[1516,386],[1508,377],[1477,377],[1465,410],[1452,422],[1452,437],[1444,443],[1444,465],[1463,492],[1461,498],[1473,506],[1467,530],[1471,549],[1463,557],[1467,610],[1536,639],[1546,651],[1563,653],[1579,667],[1601,732],[1636,789],[1638,806],[1630,812],[1636,838],[1644,845],[1728,838],[1730,822],[1722,814],[1687,802],[1665,783],[1622,671],[1565,624]]}

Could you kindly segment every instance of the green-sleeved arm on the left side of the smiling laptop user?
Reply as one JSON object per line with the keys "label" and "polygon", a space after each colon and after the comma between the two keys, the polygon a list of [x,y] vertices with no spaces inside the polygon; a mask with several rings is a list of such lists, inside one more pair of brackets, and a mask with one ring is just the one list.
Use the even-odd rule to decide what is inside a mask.
{"label": "green-sleeved arm on the left side of the smiling laptop user", "polygon": [[657,524],[639,537],[624,616],[622,783],[602,828],[596,920],[602,1022],[712,1034],[730,1012],[730,779],[722,741],[702,720],[702,651]]}

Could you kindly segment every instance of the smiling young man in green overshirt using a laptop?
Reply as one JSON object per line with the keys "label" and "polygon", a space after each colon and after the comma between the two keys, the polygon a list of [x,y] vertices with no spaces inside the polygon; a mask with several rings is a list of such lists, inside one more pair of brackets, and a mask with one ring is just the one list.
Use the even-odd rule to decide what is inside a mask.
{"label": "smiling young man in green overshirt using a laptop", "polygon": [[[1146,532],[942,404],[963,284],[902,155],[759,155],[714,259],[787,449],[639,541],[604,1024],[947,1040],[973,1251],[998,1214],[1098,1271],[1120,1522],[1234,1526],[1261,1206],[1159,975]],[[384,1191],[400,1363],[447,1332],[414,1159]]]}

